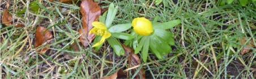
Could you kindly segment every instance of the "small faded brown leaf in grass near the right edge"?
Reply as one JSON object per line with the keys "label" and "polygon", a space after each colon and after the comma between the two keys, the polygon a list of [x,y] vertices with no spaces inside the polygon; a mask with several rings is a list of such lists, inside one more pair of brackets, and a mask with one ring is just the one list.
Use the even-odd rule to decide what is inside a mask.
{"label": "small faded brown leaf in grass near the right edge", "polygon": [[246,39],[245,37],[240,40],[240,44],[241,45],[245,45],[245,47],[241,51],[241,55],[249,53],[250,52],[250,48],[255,48],[255,45],[253,44],[253,40],[248,41],[249,43],[246,44],[247,40],[248,39]]}

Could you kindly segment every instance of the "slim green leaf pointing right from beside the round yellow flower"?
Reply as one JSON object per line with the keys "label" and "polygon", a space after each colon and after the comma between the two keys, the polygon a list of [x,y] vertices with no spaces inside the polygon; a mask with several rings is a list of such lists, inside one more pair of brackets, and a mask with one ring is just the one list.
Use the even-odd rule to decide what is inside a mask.
{"label": "slim green leaf pointing right from beside the round yellow flower", "polygon": [[164,22],[163,24],[158,24],[154,27],[159,29],[171,29],[180,23],[181,23],[181,20],[172,20],[172,21]]}

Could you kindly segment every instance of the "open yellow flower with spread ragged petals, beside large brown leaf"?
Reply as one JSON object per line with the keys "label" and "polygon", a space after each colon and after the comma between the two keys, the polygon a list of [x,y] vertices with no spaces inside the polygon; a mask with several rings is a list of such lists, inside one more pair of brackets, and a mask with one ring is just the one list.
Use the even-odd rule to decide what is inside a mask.
{"label": "open yellow flower with spread ragged petals, beside large brown leaf", "polygon": [[92,47],[97,47],[103,44],[105,39],[108,39],[111,36],[111,34],[106,28],[105,24],[103,24],[102,22],[98,22],[98,21],[92,22],[92,26],[93,26],[93,29],[89,31],[89,34],[95,34],[95,35],[101,36],[100,41],[92,46]]}

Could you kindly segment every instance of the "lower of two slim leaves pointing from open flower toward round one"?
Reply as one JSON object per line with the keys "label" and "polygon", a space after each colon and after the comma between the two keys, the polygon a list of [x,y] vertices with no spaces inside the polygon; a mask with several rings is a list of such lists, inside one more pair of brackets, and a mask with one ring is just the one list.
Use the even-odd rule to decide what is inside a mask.
{"label": "lower of two slim leaves pointing from open flower toward round one", "polygon": [[123,40],[131,40],[134,38],[133,35],[130,35],[130,34],[126,34],[126,33],[123,33],[123,32],[113,32],[111,33],[112,36],[114,36],[115,38],[118,38],[118,39],[123,39]]}

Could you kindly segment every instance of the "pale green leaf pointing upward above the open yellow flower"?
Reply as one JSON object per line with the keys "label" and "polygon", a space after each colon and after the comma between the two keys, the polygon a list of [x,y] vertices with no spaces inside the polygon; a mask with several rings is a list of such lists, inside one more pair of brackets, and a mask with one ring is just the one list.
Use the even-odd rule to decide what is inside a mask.
{"label": "pale green leaf pointing upward above the open yellow flower", "polygon": [[114,4],[111,3],[109,4],[109,8],[108,8],[108,15],[106,16],[106,27],[110,27],[110,25],[112,24],[114,17],[116,17],[117,14],[117,8],[118,6],[114,7]]}

